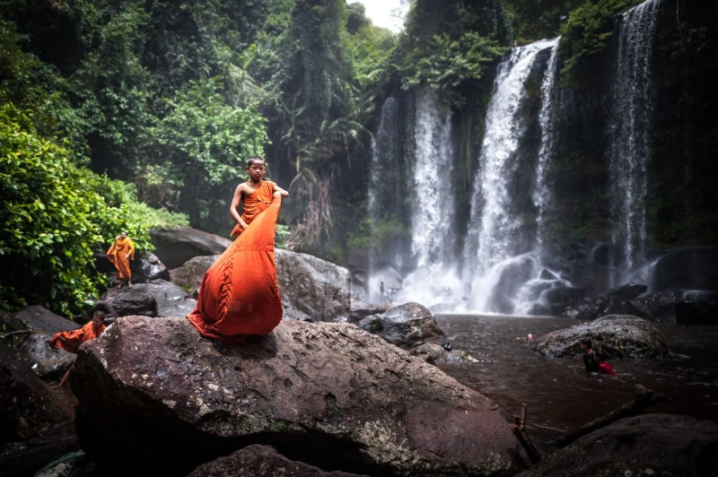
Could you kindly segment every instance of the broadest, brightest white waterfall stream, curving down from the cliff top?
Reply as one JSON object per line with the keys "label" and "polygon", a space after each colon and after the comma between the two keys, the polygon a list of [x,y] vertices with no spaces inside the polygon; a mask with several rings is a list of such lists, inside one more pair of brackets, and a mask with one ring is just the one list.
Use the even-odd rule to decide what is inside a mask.
{"label": "broadest, brightest white waterfall stream, curving down from the cliff top", "polygon": [[[513,48],[511,56],[498,67],[486,115],[486,135],[465,246],[466,263],[472,275],[468,278],[470,305],[479,311],[511,312],[513,304],[495,297],[495,290],[502,289],[504,297],[515,296],[521,285],[536,273],[535,259],[521,255],[527,250],[518,196],[526,191],[515,190],[514,185],[521,174],[516,155],[526,132],[526,120],[518,113],[538,54],[555,48],[556,42],[542,40]],[[541,148],[548,153],[548,146]]]}

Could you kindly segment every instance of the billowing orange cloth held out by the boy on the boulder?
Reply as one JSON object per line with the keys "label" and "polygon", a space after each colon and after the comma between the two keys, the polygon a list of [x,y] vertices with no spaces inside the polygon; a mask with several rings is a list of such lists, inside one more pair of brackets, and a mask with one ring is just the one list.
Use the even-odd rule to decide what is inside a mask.
{"label": "billowing orange cloth held out by the boy on the boulder", "polygon": [[205,273],[187,319],[206,338],[241,344],[245,335],[268,334],[282,321],[275,264],[281,204],[281,197],[273,197]]}

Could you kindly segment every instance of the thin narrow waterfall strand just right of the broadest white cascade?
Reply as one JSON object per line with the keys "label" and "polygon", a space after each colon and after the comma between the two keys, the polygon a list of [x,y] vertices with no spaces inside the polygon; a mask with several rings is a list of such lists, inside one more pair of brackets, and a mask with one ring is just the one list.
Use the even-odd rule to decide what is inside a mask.
{"label": "thin narrow waterfall strand just right of the broadest white cascade", "polygon": [[546,74],[541,84],[541,111],[538,114],[538,122],[541,126],[541,148],[538,151],[538,163],[536,166],[536,186],[533,193],[533,203],[538,210],[536,249],[539,253],[544,251],[546,239],[546,212],[553,205],[552,187],[549,180],[551,164],[556,155],[556,76],[558,75],[558,42],[556,39],[554,47],[551,48],[551,56],[548,58]]}

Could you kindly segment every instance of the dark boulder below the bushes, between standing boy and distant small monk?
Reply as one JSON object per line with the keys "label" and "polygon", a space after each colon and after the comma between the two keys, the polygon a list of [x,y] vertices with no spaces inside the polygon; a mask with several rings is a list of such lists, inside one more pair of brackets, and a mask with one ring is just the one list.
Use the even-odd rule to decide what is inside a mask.
{"label": "dark boulder below the bushes, between standing boy and distant small monk", "polygon": [[152,229],[150,239],[154,255],[169,270],[182,266],[195,256],[222,255],[232,245],[231,240],[190,227]]}

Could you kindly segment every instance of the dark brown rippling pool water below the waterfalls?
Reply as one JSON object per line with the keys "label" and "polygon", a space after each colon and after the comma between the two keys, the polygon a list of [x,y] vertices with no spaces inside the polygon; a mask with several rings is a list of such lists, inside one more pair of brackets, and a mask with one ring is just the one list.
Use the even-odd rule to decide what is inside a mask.
{"label": "dark brown rippling pool water below the waterfalls", "polygon": [[[669,395],[650,412],[687,414],[718,422],[718,327],[657,325],[679,356],[666,361],[611,361],[617,378],[587,376],[581,358],[551,360],[530,351],[528,334],[576,325],[573,318],[439,315],[455,349],[477,363],[444,363],[460,383],[491,397],[506,419],[528,404],[530,435],[546,440],[634,398],[641,384]],[[521,338],[517,340],[516,338]]]}

